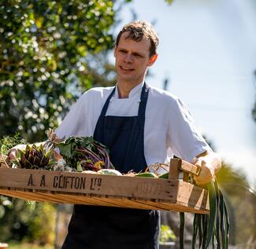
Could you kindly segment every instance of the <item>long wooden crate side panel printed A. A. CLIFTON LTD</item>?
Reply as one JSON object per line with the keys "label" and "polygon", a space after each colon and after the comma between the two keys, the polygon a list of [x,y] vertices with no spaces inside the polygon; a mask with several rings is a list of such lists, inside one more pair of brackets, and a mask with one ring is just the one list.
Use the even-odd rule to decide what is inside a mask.
{"label": "long wooden crate side panel printed A. A. CLIFTON LTD", "polygon": [[173,200],[177,192],[176,185],[176,180],[47,170],[0,169],[0,188]]}

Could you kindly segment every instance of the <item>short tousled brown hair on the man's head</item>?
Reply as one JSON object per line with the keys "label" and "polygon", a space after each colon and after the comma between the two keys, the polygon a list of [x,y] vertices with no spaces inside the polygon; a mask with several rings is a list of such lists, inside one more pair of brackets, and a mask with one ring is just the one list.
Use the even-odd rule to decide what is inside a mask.
{"label": "short tousled brown hair on the man's head", "polygon": [[144,20],[135,20],[130,24],[124,25],[117,35],[116,46],[118,46],[121,35],[126,31],[128,31],[128,35],[125,39],[131,38],[132,40],[139,42],[145,37],[150,40],[150,57],[157,53],[158,35],[150,23],[147,23]]}

